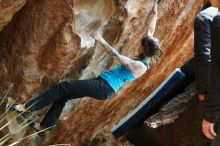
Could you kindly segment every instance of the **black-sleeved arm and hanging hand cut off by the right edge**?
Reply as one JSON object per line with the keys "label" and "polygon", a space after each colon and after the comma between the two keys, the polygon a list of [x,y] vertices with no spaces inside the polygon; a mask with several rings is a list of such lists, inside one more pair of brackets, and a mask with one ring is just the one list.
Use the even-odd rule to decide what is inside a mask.
{"label": "black-sleeved arm and hanging hand cut off by the right edge", "polygon": [[[218,8],[220,8],[220,1],[218,1]],[[213,130],[216,121],[219,122],[220,114],[220,11],[214,17],[211,26],[211,79],[208,91],[208,96],[204,101],[204,120],[203,120],[203,133],[214,140],[212,146],[220,145],[220,127],[217,131]],[[218,133],[218,134],[216,134]]]}

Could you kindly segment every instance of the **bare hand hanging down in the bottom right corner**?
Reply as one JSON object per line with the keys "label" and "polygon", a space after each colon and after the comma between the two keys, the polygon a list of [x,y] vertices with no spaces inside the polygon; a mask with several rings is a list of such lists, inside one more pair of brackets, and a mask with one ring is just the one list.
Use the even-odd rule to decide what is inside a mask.
{"label": "bare hand hanging down in the bottom right corner", "polygon": [[202,132],[209,139],[214,139],[217,135],[214,131],[214,123],[210,123],[205,119],[202,121]]}

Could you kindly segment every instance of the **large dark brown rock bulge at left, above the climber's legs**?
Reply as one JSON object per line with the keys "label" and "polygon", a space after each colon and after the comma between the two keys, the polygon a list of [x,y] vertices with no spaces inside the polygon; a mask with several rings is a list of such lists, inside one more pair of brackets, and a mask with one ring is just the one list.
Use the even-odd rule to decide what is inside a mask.
{"label": "large dark brown rock bulge at left, above the climber's legs", "polygon": [[74,29],[70,1],[28,1],[14,16],[0,33],[1,80],[14,84],[13,96],[26,100],[59,80],[80,53]]}

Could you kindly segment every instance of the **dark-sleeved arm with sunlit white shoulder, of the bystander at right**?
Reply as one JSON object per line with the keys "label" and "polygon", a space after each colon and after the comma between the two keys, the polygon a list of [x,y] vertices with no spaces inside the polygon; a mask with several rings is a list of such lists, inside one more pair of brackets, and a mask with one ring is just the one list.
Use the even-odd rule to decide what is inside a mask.
{"label": "dark-sleeved arm with sunlit white shoulder, of the bystander at right", "polygon": [[194,60],[196,90],[200,100],[204,100],[208,93],[211,63],[211,22],[218,9],[206,8],[195,18],[194,22]]}

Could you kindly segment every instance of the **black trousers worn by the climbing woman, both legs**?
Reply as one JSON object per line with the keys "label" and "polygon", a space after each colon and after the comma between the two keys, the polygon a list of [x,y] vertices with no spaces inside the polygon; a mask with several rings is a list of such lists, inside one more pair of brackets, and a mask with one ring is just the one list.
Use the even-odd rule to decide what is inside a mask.
{"label": "black trousers worn by the climbing woman, both legs", "polygon": [[68,100],[85,96],[105,100],[113,93],[114,90],[100,77],[88,80],[62,81],[29,100],[25,107],[33,112],[52,104],[52,107],[41,122],[44,128],[48,128],[57,123]]}

